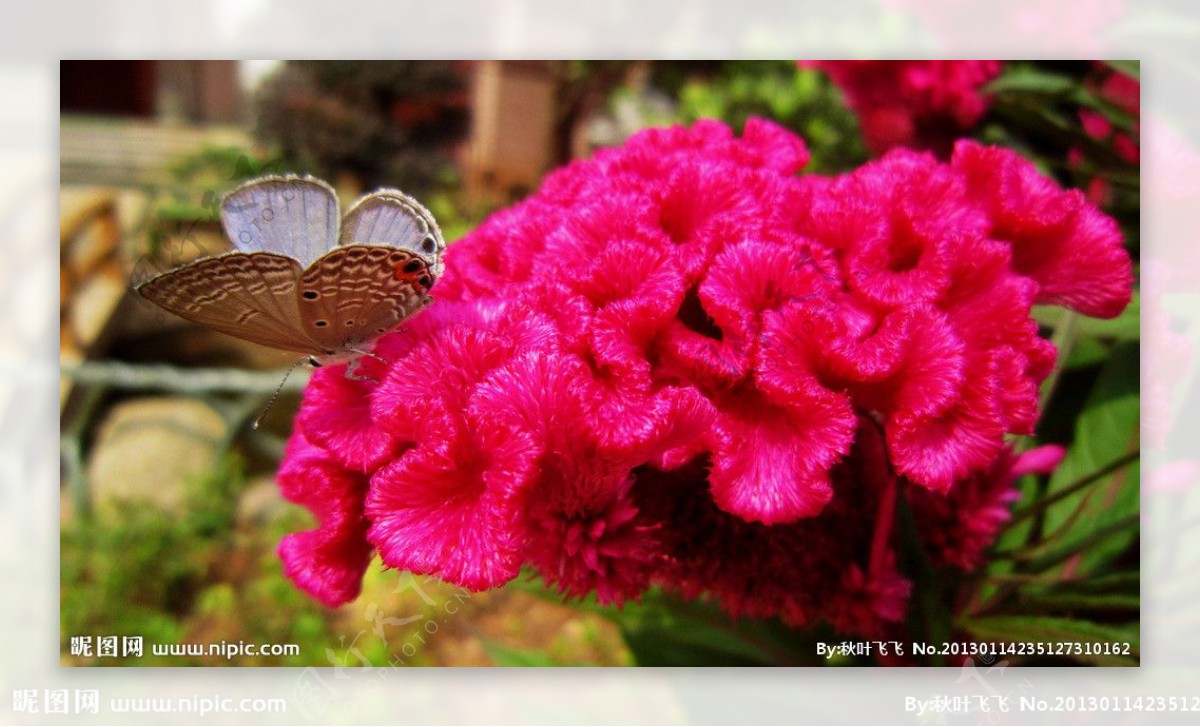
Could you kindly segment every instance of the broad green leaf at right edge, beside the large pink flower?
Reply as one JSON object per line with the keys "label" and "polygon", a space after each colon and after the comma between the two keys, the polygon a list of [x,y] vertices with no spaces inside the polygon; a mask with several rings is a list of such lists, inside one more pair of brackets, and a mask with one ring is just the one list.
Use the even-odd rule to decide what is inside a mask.
{"label": "broad green leaf at right edge, beside the large pink flower", "polygon": [[[1050,477],[1049,495],[1138,449],[1139,353],[1136,342],[1114,348],[1080,414],[1074,444]],[[1121,525],[1138,516],[1139,475],[1136,464],[1120,468],[1046,509],[1043,536],[1054,536],[1055,549],[1082,548],[1066,564],[1051,567],[1064,573],[1091,572],[1134,542],[1138,528]],[[1096,533],[1108,535],[1096,540]]]}

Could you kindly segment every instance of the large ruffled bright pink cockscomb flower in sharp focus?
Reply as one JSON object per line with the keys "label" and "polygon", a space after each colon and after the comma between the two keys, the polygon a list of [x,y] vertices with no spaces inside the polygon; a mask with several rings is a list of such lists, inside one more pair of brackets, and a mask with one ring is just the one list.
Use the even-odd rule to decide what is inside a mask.
{"label": "large ruffled bright pink cockscomb flower in sharp focus", "polygon": [[806,158],[761,120],[647,131],[452,245],[374,380],[306,392],[281,473],[320,521],[282,548],[298,585],[344,602],[378,552],[472,589],[530,569],[875,635],[911,589],[900,498],[977,564],[1054,367],[1031,307],[1114,316],[1129,258],[1010,151]]}

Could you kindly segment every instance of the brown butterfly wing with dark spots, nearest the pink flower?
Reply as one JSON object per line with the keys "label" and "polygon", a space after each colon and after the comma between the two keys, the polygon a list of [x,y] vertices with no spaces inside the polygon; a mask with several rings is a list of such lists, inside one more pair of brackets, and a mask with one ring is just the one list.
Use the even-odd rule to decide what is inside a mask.
{"label": "brown butterfly wing with dark spots, nearest the pink flower", "polygon": [[428,264],[407,250],[344,245],[300,277],[305,332],[326,350],[376,338],[422,308],[433,284]]}

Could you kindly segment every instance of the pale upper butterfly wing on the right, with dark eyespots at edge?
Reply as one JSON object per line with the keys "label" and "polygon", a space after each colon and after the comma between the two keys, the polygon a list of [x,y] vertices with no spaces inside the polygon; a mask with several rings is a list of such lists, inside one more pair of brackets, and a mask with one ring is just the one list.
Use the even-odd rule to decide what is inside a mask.
{"label": "pale upper butterfly wing on the right, with dark eyespots at edge", "polygon": [[442,230],[421,203],[400,190],[379,190],[355,202],[342,220],[337,244],[408,250],[425,258],[433,280],[442,276]]}

